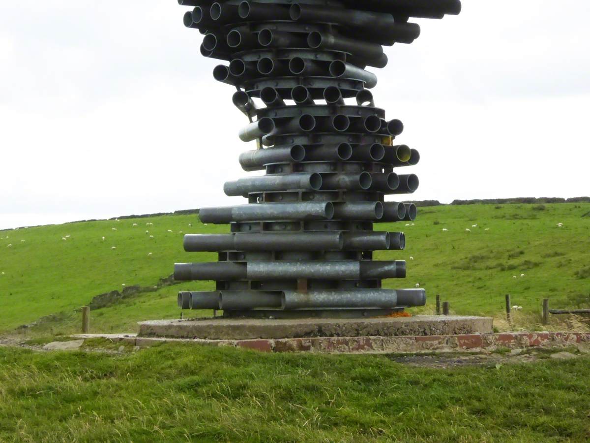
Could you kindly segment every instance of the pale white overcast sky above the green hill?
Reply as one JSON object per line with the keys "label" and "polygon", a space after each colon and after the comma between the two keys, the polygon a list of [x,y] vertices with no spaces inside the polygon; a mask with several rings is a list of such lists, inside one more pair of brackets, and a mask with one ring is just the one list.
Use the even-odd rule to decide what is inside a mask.
{"label": "pale white overcast sky above the green hill", "polygon": [[[0,229],[245,203],[245,118],[175,0],[0,2]],[[590,2],[464,0],[386,47],[416,200],[590,194]],[[224,166],[222,166],[224,165]]]}

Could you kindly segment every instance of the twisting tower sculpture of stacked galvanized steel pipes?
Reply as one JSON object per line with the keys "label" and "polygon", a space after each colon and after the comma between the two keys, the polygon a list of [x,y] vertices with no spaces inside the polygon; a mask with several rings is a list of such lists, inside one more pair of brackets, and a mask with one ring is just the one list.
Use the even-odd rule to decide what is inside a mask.
{"label": "twisting tower sculpture of stacked galvanized steel pipes", "polygon": [[225,183],[248,204],[199,211],[231,233],[185,236],[187,252],[218,252],[219,261],[175,265],[178,281],[216,282],[215,291],[181,292],[179,306],[278,318],[424,305],[424,289],[382,288],[405,277],[404,261],[372,260],[374,250],[404,249],[404,233],[373,224],[415,219],[414,204],[385,196],[417,189],[418,177],[399,168],[419,154],[394,143],[402,122],[375,107],[377,77],[365,68],[385,67],[382,45],[418,37],[409,17],[458,14],[460,1],[178,2],[194,6],[184,24],[204,34],[201,54],[228,62],[213,76],[235,87],[249,122],[240,139],[257,144],[240,155],[242,168],[265,171]]}

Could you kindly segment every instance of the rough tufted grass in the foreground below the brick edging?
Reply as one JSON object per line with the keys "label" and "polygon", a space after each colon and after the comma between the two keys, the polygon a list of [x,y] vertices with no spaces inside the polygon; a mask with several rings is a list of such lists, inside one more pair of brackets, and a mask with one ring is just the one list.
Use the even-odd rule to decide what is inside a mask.
{"label": "rough tufted grass in the foreground below the brick edging", "polygon": [[0,348],[0,440],[588,441],[590,360],[452,370],[166,345]]}

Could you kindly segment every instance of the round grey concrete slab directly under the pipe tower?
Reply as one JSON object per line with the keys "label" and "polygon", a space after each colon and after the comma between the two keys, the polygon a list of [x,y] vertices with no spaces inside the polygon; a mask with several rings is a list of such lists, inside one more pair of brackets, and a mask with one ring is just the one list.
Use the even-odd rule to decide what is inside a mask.
{"label": "round grey concrete slab directly under the pipe tower", "polygon": [[415,315],[355,319],[204,318],[152,320],[139,323],[139,337],[252,340],[303,337],[398,337],[400,335],[457,335],[492,332],[490,317]]}

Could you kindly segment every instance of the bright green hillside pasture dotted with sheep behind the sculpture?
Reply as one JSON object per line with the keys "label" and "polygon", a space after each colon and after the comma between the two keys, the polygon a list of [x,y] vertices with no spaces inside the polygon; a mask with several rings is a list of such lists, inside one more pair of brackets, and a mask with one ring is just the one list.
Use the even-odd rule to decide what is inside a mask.
{"label": "bright green hillside pasture dotted with sheep behind the sculpture", "polygon": [[[590,204],[534,207],[427,207],[419,211],[414,226],[376,225],[407,235],[405,251],[375,253],[376,259],[408,260],[408,278],[386,281],[385,286],[411,287],[419,282],[430,295],[427,307],[416,310],[422,312],[432,311],[435,294],[450,301],[458,314],[499,314],[506,293],[524,307],[523,312],[536,313],[546,297],[555,307],[588,306],[590,217],[582,215],[590,211]],[[558,222],[562,228],[556,227]],[[184,253],[179,231],[221,233],[228,227],[203,226],[196,216],[163,216],[0,232],[0,331],[43,315],[71,313],[94,295],[121,289],[122,284],[154,285],[172,272],[174,262],[216,259],[214,253]],[[149,239],[150,234],[155,238]],[[62,240],[66,235],[70,237]],[[6,247],[9,243],[12,247]],[[520,278],[520,273],[525,277]],[[211,288],[209,282],[175,285],[93,311],[93,331],[129,330],[137,320],[178,317],[178,289]],[[76,323],[67,314],[59,326],[70,330]]]}

